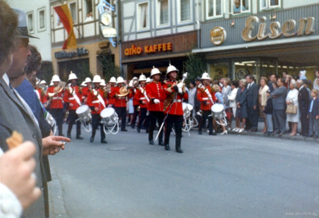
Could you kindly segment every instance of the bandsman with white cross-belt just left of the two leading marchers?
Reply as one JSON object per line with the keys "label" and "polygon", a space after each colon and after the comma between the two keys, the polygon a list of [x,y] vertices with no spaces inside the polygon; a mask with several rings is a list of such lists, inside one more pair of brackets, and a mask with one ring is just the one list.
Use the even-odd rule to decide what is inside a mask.
{"label": "bandsman with white cross-belt just left of the two leading marchers", "polygon": [[[141,126],[146,118],[146,112],[147,112],[147,104],[150,102],[150,99],[147,97],[146,91],[145,91],[145,83],[146,83],[146,77],[142,74],[139,78],[139,86],[136,90],[134,100],[139,103],[139,119],[137,124],[137,132],[141,132]],[[135,109],[135,108],[134,108]]]}

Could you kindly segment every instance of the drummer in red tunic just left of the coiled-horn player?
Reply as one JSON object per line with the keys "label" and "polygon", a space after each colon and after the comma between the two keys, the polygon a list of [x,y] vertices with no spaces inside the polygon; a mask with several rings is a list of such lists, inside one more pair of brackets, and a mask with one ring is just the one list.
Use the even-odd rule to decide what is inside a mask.
{"label": "drummer in red tunic just left of the coiled-horn player", "polygon": [[103,131],[103,124],[100,123],[101,111],[106,107],[105,101],[103,99],[104,92],[100,87],[100,83],[102,82],[101,77],[99,75],[96,75],[93,77],[92,83],[94,84],[94,89],[90,89],[87,95],[87,101],[86,104],[91,108],[92,110],[92,136],[90,138],[90,142],[93,142],[96,129],[98,126],[100,126],[100,132],[101,132],[101,143],[106,144],[108,143],[105,140],[105,133]]}

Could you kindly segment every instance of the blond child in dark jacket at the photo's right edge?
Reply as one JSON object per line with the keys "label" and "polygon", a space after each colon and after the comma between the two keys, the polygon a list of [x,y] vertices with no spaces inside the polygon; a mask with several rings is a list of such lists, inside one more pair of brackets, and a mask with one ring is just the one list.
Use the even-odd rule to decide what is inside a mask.
{"label": "blond child in dark jacket at the photo's right edge", "polygon": [[318,139],[319,137],[319,92],[316,89],[311,90],[311,103],[309,107],[309,137]]}

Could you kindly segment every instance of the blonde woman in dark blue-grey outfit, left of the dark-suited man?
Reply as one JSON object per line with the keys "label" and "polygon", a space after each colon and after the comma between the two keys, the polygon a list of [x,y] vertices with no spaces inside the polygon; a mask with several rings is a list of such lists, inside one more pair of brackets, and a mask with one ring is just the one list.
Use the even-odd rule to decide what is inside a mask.
{"label": "blonde woman in dark blue-grey outfit, left of the dark-suited man", "polygon": [[246,79],[241,79],[239,81],[239,87],[236,96],[236,125],[240,126],[240,121],[242,119],[241,128],[237,129],[236,132],[241,133],[244,131],[247,115],[247,81]]}

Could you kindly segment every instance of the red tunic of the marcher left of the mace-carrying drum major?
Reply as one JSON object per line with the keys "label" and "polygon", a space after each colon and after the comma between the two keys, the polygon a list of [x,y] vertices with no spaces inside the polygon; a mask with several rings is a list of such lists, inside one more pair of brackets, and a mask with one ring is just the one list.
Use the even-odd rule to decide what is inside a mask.
{"label": "red tunic of the marcher left of the mace-carrying drum major", "polygon": [[[151,100],[147,105],[147,110],[149,111],[160,111],[164,110],[164,101],[166,99],[166,94],[164,92],[163,86],[160,82],[155,83],[154,81],[145,86],[146,94]],[[158,104],[154,104],[152,99],[159,99]]]}

